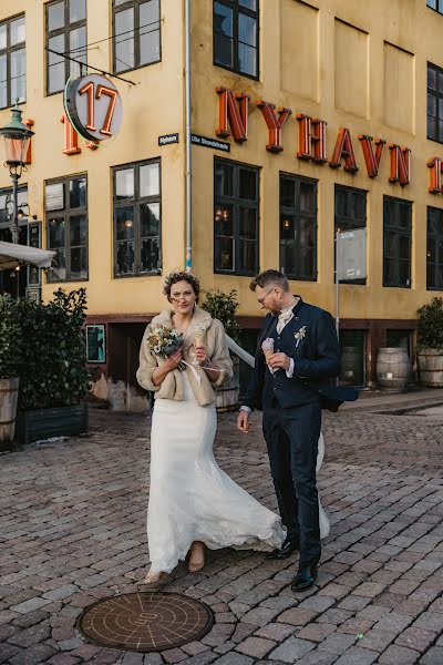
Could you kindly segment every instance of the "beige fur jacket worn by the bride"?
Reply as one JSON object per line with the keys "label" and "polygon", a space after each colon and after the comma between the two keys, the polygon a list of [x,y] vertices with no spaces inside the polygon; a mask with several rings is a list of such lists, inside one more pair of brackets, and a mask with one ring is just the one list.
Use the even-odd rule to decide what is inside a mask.
{"label": "beige fur jacket worn by the bride", "polygon": [[[172,311],[162,311],[158,316],[154,317],[146,327],[140,348],[137,381],[146,390],[154,391],[155,399],[164,398],[181,401],[183,399],[183,372],[179,369],[174,369],[166,375],[164,381],[159,386],[154,386],[152,375],[155,368],[164,362],[164,359],[151,351],[146,341],[147,337],[151,335],[152,326],[162,325],[172,328],[171,316]],[[186,370],[183,370],[186,371],[197,403],[204,407],[205,405],[210,405],[215,401],[213,386],[222,386],[222,383],[233,377],[233,362],[226,344],[223,324],[218,319],[213,319],[207,311],[197,306],[195,307],[194,316],[185,332],[185,339],[182,347],[183,358],[186,362],[192,364],[194,360],[194,334],[196,328],[204,328],[206,330],[205,347],[208,358],[218,367],[218,369],[224,370],[219,374],[214,383],[209,381],[205,370],[199,366],[196,366],[195,369],[202,379],[200,382],[197,381],[188,367],[186,367]]]}

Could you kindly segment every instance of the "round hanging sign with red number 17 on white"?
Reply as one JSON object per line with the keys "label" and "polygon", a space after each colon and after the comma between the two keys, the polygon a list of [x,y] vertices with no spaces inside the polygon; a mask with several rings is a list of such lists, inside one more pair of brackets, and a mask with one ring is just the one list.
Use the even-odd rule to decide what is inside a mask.
{"label": "round hanging sign with red number 17 on white", "polygon": [[114,83],[102,74],[69,80],[64,110],[74,130],[87,141],[105,141],[122,124],[122,99]]}

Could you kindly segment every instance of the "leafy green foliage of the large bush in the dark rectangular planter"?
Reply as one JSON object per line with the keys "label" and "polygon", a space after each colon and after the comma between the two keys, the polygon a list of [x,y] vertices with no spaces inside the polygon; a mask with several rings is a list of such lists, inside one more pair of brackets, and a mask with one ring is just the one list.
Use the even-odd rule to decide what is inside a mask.
{"label": "leafy green foliage of the large bush in the dark rectangular planter", "polygon": [[23,339],[19,409],[78,405],[89,388],[82,331],[86,290],[59,289],[47,305],[20,300]]}

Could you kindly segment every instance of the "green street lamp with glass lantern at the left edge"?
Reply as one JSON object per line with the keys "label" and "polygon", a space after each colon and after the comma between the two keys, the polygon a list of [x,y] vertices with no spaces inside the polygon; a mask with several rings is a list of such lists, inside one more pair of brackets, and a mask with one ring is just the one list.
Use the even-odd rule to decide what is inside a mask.
{"label": "green street lamp with glass lantern at the left edge", "polygon": [[3,127],[0,127],[0,136],[4,146],[4,154],[7,156],[4,166],[8,166],[10,176],[12,178],[12,242],[19,242],[19,224],[18,224],[18,191],[19,191],[19,178],[27,168],[24,160],[28,152],[29,142],[33,132],[21,122],[21,110],[18,104],[12,109],[11,120]]}

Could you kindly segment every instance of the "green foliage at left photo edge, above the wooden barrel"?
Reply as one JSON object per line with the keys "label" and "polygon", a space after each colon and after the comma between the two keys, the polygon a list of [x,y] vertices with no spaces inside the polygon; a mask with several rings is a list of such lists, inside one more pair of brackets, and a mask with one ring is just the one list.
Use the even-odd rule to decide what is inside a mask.
{"label": "green foliage at left photo edge, above the wooden barrel", "polygon": [[22,365],[22,337],[19,321],[19,303],[9,294],[0,295],[0,379],[20,375]]}

